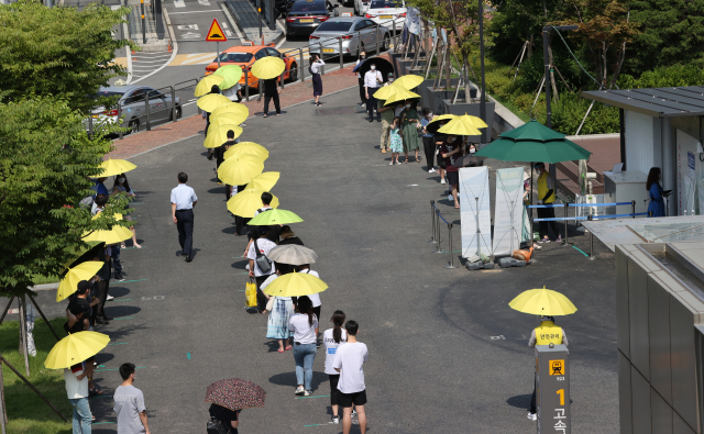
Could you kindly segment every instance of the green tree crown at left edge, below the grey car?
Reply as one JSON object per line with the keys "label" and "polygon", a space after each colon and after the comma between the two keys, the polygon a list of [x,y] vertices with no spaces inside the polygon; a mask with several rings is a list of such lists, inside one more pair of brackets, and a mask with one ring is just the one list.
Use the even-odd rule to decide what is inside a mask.
{"label": "green tree crown at left edge, below the grey car", "polygon": [[[59,275],[85,230],[108,229],[112,208],[91,220],[77,207],[92,194],[109,131],[92,138],[82,116],[50,98],[0,103],[0,292],[20,294],[35,276]],[[114,209],[127,204],[111,199]]]}

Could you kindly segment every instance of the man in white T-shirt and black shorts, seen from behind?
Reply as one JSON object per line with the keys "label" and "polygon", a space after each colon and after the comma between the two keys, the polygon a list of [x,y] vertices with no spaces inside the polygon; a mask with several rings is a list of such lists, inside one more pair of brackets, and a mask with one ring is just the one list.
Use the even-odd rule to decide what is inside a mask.
{"label": "man in white T-shirt and black shorts, seen from behind", "polygon": [[332,367],[340,372],[338,389],[340,390],[340,407],[342,407],[342,433],[350,434],[352,427],[352,405],[356,408],[360,422],[360,431],[366,433],[366,387],[364,386],[363,365],[369,358],[366,345],[356,340],[360,324],[350,320],[344,324],[348,332],[346,344],[337,349]]}

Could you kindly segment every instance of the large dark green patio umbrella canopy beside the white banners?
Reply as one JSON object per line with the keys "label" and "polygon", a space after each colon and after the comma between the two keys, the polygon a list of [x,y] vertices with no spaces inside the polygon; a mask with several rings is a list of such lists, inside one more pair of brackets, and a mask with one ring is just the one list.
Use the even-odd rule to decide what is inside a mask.
{"label": "large dark green patio umbrella canopy beside the white banners", "polygon": [[536,120],[507,131],[475,154],[502,162],[560,163],[588,159],[591,152]]}

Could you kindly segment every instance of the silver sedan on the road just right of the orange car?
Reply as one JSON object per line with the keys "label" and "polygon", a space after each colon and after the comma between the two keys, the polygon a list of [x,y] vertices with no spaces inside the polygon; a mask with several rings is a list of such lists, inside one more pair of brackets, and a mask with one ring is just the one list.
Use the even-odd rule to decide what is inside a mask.
{"label": "silver sedan on the road just right of the orange car", "polygon": [[[382,52],[391,45],[388,29],[378,26],[366,18],[332,18],[316,29],[308,38],[308,51],[321,54],[321,57],[332,57],[340,54],[358,56],[360,52]],[[378,44],[378,45],[377,45]],[[380,48],[380,49],[377,49]]]}

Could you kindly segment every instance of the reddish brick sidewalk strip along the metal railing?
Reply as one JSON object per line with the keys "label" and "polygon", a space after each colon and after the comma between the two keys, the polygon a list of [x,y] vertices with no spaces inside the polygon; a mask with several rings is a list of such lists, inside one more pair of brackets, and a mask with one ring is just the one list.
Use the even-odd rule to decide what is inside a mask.
{"label": "reddish brick sidewalk strip along the metal railing", "polygon": [[[323,97],[358,86],[358,79],[354,73],[352,73],[351,65],[344,69],[328,73],[321,78]],[[250,96],[250,98],[252,97]],[[279,100],[282,109],[312,100],[312,81],[307,76],[304,82],[286,86],[286,88],[282,90]],[[263,101],[257,102],[254,98],[250,100],[250,102],[243,102],[243,104],[250,109],[250,118],[262,114]],[[273,111],[273,105],[270,107],[270,109]],[[204,132],[205,126],[206,122],[200,115],[188,116],[178,122],[169,122],[163,126],[152,129],[152,131],[141,132],[129,135],[121,141],[114,141],[114,149],[107,154],[107,156],[110,158],[130,158],[168,143],[200,134]]]}

